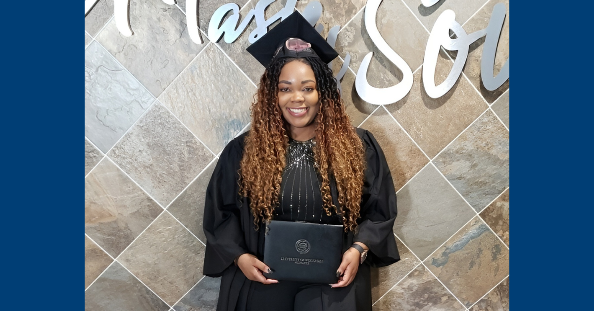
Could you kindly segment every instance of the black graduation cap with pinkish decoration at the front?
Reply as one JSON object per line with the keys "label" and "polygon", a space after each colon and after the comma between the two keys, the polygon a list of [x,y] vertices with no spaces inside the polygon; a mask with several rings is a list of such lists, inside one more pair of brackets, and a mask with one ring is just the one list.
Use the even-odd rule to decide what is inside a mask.
{"label": "black graduation cap with pinkish decoration at the front", "polygon": [[276,58],[314,56],[328,64],[338,56],[298,11],[248,46],[246,51],[266,68]]}

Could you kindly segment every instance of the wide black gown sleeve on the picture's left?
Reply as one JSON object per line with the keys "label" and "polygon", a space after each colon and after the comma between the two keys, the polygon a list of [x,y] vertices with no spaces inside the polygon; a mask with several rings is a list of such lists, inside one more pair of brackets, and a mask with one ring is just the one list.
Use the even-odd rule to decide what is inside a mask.
{"label": "wide black gown sleeve on the picture's left", "polygon": [[204,203],[203,229],[206,235],[203,274],[220,277],[233,260],[247,253],[239,210],[239,161],[242,147],[238,139],[223,149],[208,187]]}

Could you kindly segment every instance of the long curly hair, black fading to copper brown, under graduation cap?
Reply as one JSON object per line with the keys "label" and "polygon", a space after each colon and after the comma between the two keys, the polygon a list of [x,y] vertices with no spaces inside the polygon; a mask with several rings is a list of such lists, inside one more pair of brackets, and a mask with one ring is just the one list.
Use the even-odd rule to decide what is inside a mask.
{"label": "long curly hair, black fading to copper brown, under graduation cap", "polygon": [[[304,62],[315,74],[321,105],[315,117],[318,127],[314,158],[321,177],[324,211],[328,216],[332,212],[338,213],[342,216],[345,231],[354,231],[359,218],[365,169],[363,143],[350,124],[332,71],[319,58],[279,58],[264,71],[250,108],[252,124],[245,137],[241,159],[241,194],[250,200],[257,228],[259,221],[273,219],[274,209],[279,206],[290,133],[278,104],[278,84],[280,71],[291,61]],[[331,178],[336,181],[340,209],[332,202]]]}

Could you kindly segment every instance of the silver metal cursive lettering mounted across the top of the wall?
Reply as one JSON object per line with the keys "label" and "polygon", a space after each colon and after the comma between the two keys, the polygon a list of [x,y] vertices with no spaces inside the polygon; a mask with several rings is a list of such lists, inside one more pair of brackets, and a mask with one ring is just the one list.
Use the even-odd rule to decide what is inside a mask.
{"label": "silver metal cursive lettering mounted across the top of the wall", "polygon": [[[85,15],[93,8],[98,0],[86,0],[84,3]],[[132,28],[129,21],[129,1],[130,0],[114,0],[114,18],[116,26],[120,33],[124,36],[131,36],[133,34]],[[239,18],[239,5],[234,3],[223,4],[210,18],[208,23],[208,39],[212,42],[219,42],[220,39],[224,39],[226,43],[233,43],[241,36],[241,34],[247,29],[252,21],[255,21],[256,28],[249,33],[248,40],[250,43],[256,42],[263,36],[267,31],[268,27],[276,22],[277,20],[284,20],[294,10],[297,0],[286,0],[285,6],[272,15],[272,17],[266,19],[264,11],[276,0],[260,0],[255,7],[248,12],[241,22]],[[409,65],[406,61],[398,55],[386,40],[381,36],[375,23],[377,16],[377,10],[380,7],[382,0],[369,0],[365,5],[365,29],[369,34],[372,42],[377,48],[384,54],[388,60],[390,60],[396,67],[402,71],[402,81],[394,86],[390,87],[373,87],[368,83],[367,71],[369,69],[369,63],[373,56],[373,52],[369,52],[359,65],[355,78],[355,90],[361,99],[366,102],[375,105],[388,105],[390,103],[397,102],[404,98],[412,89],[413,76]],[[175,0],[163,0],[166,4],[173,5]],[[437,4],[439,0],[421,0],[422,5],[425,7],[431,7]],[[195,43],[203,43],[200,31],[198,30],[198,0],[187,0],[186,1],[186,18],[188,25],[189,36]],[[466,64],[466,59],[469,52],[469,46],[479,38],[485,36],[485,43],[483,45],[483,51],[481,55],[481,80],[487,90],[496,90],[498,87],[503,85],[505,81],[510,78],[510,59],[505,61],[503,68],[497,76],[494,75],[494,64],[495,64],[495,52],[497,51],[497,45],[501,34],[501,28],[506,14],[505,4],[499,3],[495,5],[489,19],[489,24],[485,29],[479,30],[467,34],[456,21],[456,13],[452,10],[445,10],[435,21],[429,39],[425,47],[425,55],[423,59],[423,84],[425,92],[431,98],[439,98],[447,93],[456,84],[456,81],[462,74],[462,69]],[[315,27],[318,32],[322,32],[324,26],[317,24],[318,20],[322,15],[322,5],[318,1],[311,1],[302,12],[305,19]],[[227,17],[225,21],[223,21]],[[317,24],[317,25],[316,25]],[[326,38],[327,42],[334,47],[336,44],[336,38],[340,26],[334,26],[328,31]],[[455,39],[450,37],[450,30],[456,35]],[[441,48],[447,49],[448,51],[457,51],[454,65],[450,70],[447,78],[440,83],[435,85],[435,68],[437,66],[437,57]],[[331,64],[328,64],[330,68]],[[347,53],[339,73],[336,76],[339,89],[340,80],[345,76],[346,70],[350,64],[350,54]]]}

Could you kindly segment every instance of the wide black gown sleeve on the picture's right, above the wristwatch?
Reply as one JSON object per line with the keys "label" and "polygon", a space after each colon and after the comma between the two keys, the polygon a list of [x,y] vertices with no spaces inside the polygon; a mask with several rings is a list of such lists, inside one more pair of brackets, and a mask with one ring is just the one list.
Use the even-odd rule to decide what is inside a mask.
{"label": "wide black gown sleeve on the picture's right, above the wristwatch", "polygon": [[396,191],[386,157],[375,137],[366,130],[357,130],[365,147],[366,169],[358,231],[353,241],[369,247],[366,261],[374,267],[387,266],[400,260],[394,239]]}

